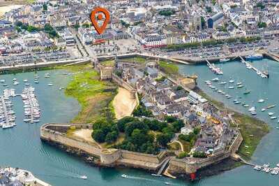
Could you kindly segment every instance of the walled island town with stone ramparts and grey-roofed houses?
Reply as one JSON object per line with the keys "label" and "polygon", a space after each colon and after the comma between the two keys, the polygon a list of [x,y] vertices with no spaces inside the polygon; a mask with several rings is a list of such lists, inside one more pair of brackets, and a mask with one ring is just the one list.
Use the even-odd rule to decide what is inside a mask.
{"label": "walled island town with stone ramparts and grey-roofed houses", "polygon": [[[100,145],[94,146],[84,139],[79,141],[77,138],[66,135],[69,129],[91,129],[90,124],[45,124],[41,127],[43,141],[58,144],[63,148],[80,149],[82,153],[89,156],[86,160],[92,159],[90,155],[93,155],[100,159],[99,162],[95,161],[95,164],[102,166],[130,166],[153,172],[158,171],[156,175],[159,176],[161,173],[170,176],[185,173],[190,174],[193,179],[197,170],[230,156],[237,157],[235,152],[242,141],[237,124],[227,111],[218,110],[209,101],[187,87],[188,85],[195,88],[195,82],[187,85],[177,83],[176,80],[168,78],[167,74],[159,70],[160,67],[156,61],[139,64],[126,62],[125,59],[116,59],[114,67],[106,68],[102,62],[99,62],[96,68],[100,71],[101,79],[114,80],[119,86],[130,90],[132,96],[139,99],[138,106],[133,112],[134,117],[123,117],[116,123],[117,133],[123,130],[121,123],[126,124],[125,134],[130,135],[132,140],[127,144],[124,141],[121,145],[103,148]],[[137,148],[136,142],[133,142],[133,138],[137,138],[137,135],[140,137],[140,134],[144,134],[142,127],[146,123],[149,123],[147,128],[158,132],[155,135],[156,139],[153,139],[151,143],[158,143],[160,152],[154,146],[149,147],[149,143],[146,143],[149,148],[143,150],[143,148]],[[103,130],[102,127],[98,127],[102,124],[104,124],[103,121],[93,124],[92,133],[94,140],[100,143],[104,140],[100,138],[97,131]],[[129,129],[129,125],[134,124],[135,126]],[[152,124],[158,124],[158,126],[165,124],[165,127],[158,129],[158,126],[152,127]],[[109,134],[106,135],[105,141]],[[130,138],[126,140],[129,141]],[[181,141],[188,145],[181,144]],[[132,146],[135,145],[135,148],[131,148],[131,143]],[[167,145],[172,143],[181,145],[183,152],[176,152],[176,155],[169,154],[170,148]],[[183,148],[188,148],[188,150]]]}

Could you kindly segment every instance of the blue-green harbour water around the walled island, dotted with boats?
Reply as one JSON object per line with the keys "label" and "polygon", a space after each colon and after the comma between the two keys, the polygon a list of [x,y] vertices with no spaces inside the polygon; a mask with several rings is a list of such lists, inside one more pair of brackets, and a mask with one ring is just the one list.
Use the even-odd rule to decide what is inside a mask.
{"label": "blue-green harbour water around the walled island, dotted with boats", "polygon": [[[276,166],[279,162],[279,130],[276,129],[277,120],[270,120],[267,113],[261,113],[260,108],[270,104],[278,103],[279,90],[279,64],[268,59],[253,62],[260,69],[262,64],[269,65],[271,78],[262,79],[257,76],[255,71],[246,69],[240,62],[228,62],[218,64],[223,67],[224,75],[220,79],[227,81],[234,78],[235,81],[242,81],[246,88],[252,90],[250,94],[243,95],[243,90],[228,90],[226,87],[220,87],[228,94],[234,97],[241,96],[241,101],[245,101],[250,106],[257,106],[257,117],[265,120],[271,126],[271,132],[266,135],[258,145],[252,162],[263,164],[269,162]],[[248,113],[248,108],[241,105],[234,105],[232,99],[225,99],[225,96],[211,91],[206,87],[204,80],[216,78],[206,65],[180,65],[181,73],[197,73],[199,76],[199,87],[207,94],[214,96],[215,99],[225,102],[225,104],[243,113]],[[40,122],[37,124],[27,124],[24,119],[24,110],[22,99],[17,96],[13,98],[13,109],[17,115],[17,126],[12,129],[0,129],[0,165],[13,166],[27,169],[38,178],[45,180],[51,185],[165,185],[165,182],[171,185],[277,185],[279,176],[271,176],[267,173],[256,172],[250,166],[241,166],[232,171],[226,171],[216,176],[203,178],[195,183],[189,183],[185,180],[172,180],[169,178],[154,178],[149,173],[135,169],[98,169],[89,166],[82,160],[68,155],[66,152],[58,150],[50,145],[40,141],[40,125],[46,122],[69,122],[80,110],[77,101],[71,97],[65,96],[63,90],[59,87],[66,87],[72,76],[65,76],[65,70],[38,71],[40,83],[33,83],[35,72],[16,73],[1,75],[0,79],[5,79],[8,88],[15,88],[16,93],[20,94],[24,87],[23,80],[29,80],[29,83],[35,87],[38,103],[41,109]],[[50,78],[44,78],[45,73],[50,73]],[[20,81],[20,85],[12,85],[13,78]],[[52,87],[47,86],[53,83]],[[218,83],[216,83],[216,87]],[[6,87],[0,85],[0,92]],[[0,93],[2,94],[2,93]],[[264,103],[257,103],[257,100],[263,98]],[[272,109],[272,112],[279,115],[279,105]],[[279,126],[279,125],[278,125]],[[128,178],[121,178],[121,174],[127,174]],[[86,175],[87,180],[79,177]]]}

